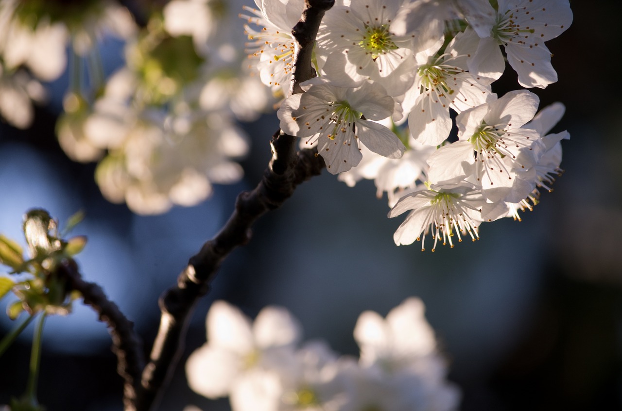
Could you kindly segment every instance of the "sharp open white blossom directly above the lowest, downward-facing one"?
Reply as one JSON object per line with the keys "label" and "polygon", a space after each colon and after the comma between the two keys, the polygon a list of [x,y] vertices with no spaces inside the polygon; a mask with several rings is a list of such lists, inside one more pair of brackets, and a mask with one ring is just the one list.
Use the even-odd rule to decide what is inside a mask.
{"label": "sharp open white blossom directly above the lowest, downward-facing one", "polygon": [[430,156],[430,181],[448,184],[468,178],[491,202],[524,199],[534,188],[533,167],[544,153],[540,133],[523,127],[538,103],[535,94],[518,90],[459,114],[459,141]]}

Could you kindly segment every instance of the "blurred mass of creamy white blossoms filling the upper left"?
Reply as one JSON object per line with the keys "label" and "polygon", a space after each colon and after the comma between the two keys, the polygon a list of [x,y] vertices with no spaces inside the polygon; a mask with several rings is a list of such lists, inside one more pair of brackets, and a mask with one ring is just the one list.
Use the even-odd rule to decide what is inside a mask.
{"label": "blurred mass of creamy white blossoms filling the upper left", "polygon": [[[72,160],[98,162],[104,196],[138,214],[198,204],[243,175],[235,159],[248,138],[236,120],[273,103],[249,76],[243,4],[231,3],[171,1],[141,28],[114,1],[0,0],[0,117],[29,127],[31,101],[45,98],[37,79],[68,68],[58,142]],[[109,34],[124,40],[126,61],[104,79]]]}

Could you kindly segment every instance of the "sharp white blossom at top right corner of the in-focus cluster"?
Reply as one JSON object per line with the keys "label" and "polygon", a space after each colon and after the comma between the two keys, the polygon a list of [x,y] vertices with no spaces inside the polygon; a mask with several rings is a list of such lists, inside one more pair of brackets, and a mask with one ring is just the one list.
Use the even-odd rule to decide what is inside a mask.
{"label": "sharp white blossom at top right corner of the in-focus cluster", "polygon": [[498,10],[480,17],[476,31],[481,38],[469,61],[471,72],[493,79],[501,77],[505,62],[499,45],[503,45],[521,86],[545,88],[557,81],[544,42],[570,27],[568,0],[499,0]]}

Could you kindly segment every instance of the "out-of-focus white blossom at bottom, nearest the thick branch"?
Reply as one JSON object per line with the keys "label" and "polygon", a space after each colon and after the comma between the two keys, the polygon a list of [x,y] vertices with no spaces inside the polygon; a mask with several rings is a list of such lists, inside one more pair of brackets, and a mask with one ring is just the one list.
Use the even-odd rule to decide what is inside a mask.
{"label": "out-of-focus white blossom at bottom, nearest the thick branch", "polygon": [[[263,395],[266,390],[276,394],[278,382],[264,377],[262,371],[287,366],[292,361],[300,326],[287,310],[266,307],[251,323],[236,307],[216,301],[208,312],[206,325],[207,343],[192,353],[186,363],[188,385],[193,391],[208,398],[230,394],[240,397],[246,392],[241,395],[244,401],[243,397],[253,391],[249,381],[258,377]],[[245,376],[251,380],[245,381]]]}

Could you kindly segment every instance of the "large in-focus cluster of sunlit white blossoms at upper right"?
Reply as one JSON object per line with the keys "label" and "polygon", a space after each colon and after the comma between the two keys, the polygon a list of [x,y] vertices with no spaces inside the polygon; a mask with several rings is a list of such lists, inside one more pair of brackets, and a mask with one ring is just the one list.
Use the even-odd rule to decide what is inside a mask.
{"label": "large in-focus cluster of sunlit white blossoms at upper right", "polygon": [[[276,12],[276,2],[262,1],[264,12]],[[299,7],[285,3],[281,16]],[[282,102],[281,129],[301,147],[317,145],[348,185],[374,179],[379,196],[388,192],[389,217],[409,212],[397,245],[420,240],[424,250],[429,232],[432,251],[476,240],[481,222],[519,219],[539,187],[550,189],[559,142],[569,138],[545,134],[560,104],[534,119],[536,94],[493,93],[502,48],[521,86],[545,88],[557,75],[544,42],[571,22],[567,0],[337,1],[318,32],[318,78]],[[275,42],[260,50],[271,61],[257,65],[262,79],[273,78],[268,67],[288,70]]]}

